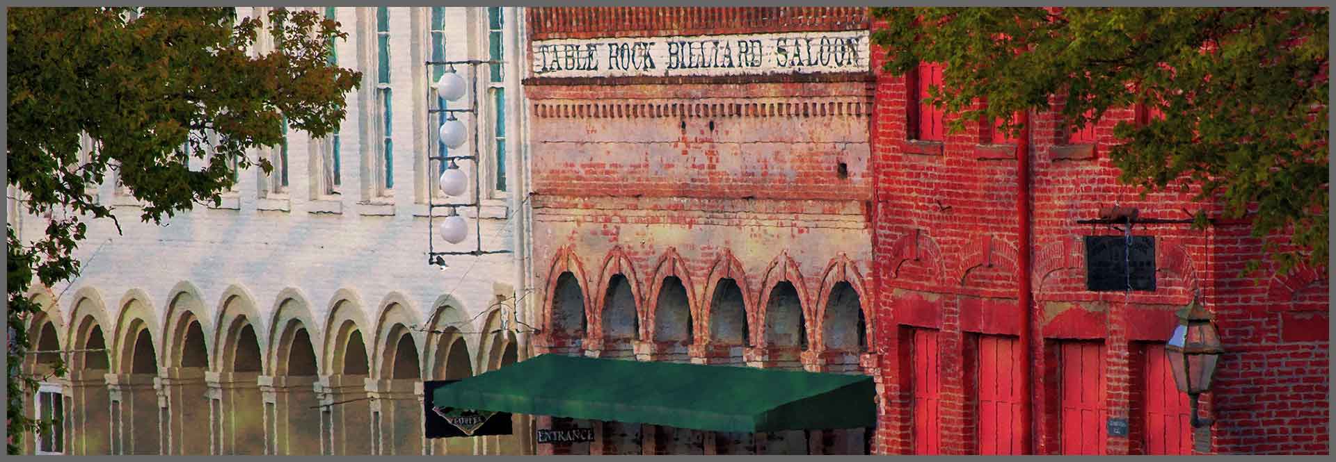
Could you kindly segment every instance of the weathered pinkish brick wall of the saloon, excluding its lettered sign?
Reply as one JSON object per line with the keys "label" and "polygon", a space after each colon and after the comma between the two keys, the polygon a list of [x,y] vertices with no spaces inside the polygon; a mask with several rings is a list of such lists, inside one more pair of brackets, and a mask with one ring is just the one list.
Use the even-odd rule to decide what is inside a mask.
{"label": "weathered pinkish brick wall of the saloon, excluding its lettered sign", "polygon": [[[863,8],[532,8],[528,15],[530,43],[866,28]],[[536,347],[629,354],[613,351],[604,335],[608,288],[621,275],[636,307],[640,359],[862,370],[868,355],[824,347],[823,328],[835,323],[824,323],[823,312],[839,282],[854,287],[862,307],[870,299],[868,77],[862,68],[525,79],[534,280],[546,284],[538,306],[544,326],[568,299],[585,316],[582,331],[545,332]],[[556,287],[562,274],[574,276],[582,298]],[[679,303],[691,312],[693,335],[685,342],[656,336],[668,319],[659,300],[671,299],[660,296],[671,278],[687,291]],[[741,291],[752,346],[712,342],[712,302],[724,279]],[[798,291],[808,351],[763,347],[766,307],[783,282]]]}

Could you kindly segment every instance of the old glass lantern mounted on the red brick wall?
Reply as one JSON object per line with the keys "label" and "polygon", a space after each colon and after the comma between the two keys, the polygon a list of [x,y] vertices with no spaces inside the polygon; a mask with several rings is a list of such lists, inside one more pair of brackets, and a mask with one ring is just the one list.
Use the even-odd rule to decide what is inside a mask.
{"label": "old glass lantern mounted on the red brick wall", "polygon": [[1178,310],[1178,326],[1165,344],[1174,385],[1178,391],[1193,397],[1210,390],[1216,365],[1225,353],[1212,320],[1210,314],[1193,299]]}

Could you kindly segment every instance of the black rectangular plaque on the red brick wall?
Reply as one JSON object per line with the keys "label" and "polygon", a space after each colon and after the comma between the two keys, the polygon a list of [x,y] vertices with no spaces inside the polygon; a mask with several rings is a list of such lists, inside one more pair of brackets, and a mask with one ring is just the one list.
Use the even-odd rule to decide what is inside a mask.
{"label": "black rectangular plaque on the red brick wall", "polygon": [[1086,236],[1085,243],[1086,290],[1128,290],[1129,264],[1132,290],[1156,290],[1156,238],[1132,236],[1130,255],[1125,236]]}

